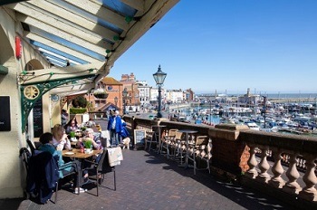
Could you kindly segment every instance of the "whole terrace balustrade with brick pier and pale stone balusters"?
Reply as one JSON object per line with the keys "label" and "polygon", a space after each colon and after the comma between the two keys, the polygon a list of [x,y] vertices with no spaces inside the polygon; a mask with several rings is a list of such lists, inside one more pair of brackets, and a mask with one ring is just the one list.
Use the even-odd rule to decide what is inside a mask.
{"label": "whole terrace balustrade with brick pier and pale stone balusters", "polygon": [[213,172],[282,195],[284,201],[300,207],[317,205],[317,138],[255,131],[243,125],[208,128],[168,120],[124,119],[130,129],[151,131],[152,125],[159,124],[167,130],[197,130],[197,135],[211,138]]}

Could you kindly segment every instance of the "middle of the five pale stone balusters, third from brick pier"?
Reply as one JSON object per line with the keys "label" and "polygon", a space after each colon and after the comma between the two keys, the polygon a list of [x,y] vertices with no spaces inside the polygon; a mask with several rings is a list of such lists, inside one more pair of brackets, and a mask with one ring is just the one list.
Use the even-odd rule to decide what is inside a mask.
{"label": "middle of the five pale stone balusters, third from brick pier", "polygon": [[272,172],[274,176],[269,181],[270,186],[276,188],[282,188],[285,185],[285,181],[281,177],[283,175],[284,169],[282,167],[282,151],[278,148],[273,148],[274,165],[272,167]]}

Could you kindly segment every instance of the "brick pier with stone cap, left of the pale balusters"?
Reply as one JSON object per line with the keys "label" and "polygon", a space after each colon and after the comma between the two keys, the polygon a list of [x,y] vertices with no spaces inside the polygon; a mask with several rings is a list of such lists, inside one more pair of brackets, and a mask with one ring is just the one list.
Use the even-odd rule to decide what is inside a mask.
{"label": "brick pier with stone cap, left of the pale balusters", "polygon": [[209,129],[208,135],[212,139],[212,166],[241,175],[246,171],[249,153],[245,145],[239,140],[241,129],[248,129],[245,125],[216,125]]}

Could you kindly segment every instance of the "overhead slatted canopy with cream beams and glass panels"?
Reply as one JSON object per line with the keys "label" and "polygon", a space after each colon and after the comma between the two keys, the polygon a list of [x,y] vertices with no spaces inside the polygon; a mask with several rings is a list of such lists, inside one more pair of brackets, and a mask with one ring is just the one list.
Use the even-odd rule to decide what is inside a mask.
{"label": "overhead slatted canopy with cream beams and glass panels", "polygon": [[[177,3],[178,0],[6,0],[0,5],[15,12],[16,21],[24,29],[20,34],[24,42],[32,44],[56,67],[35,74],[62,71],[78,76],[83,70],[93,73],[93,77],[76,84],[55,88],[57,93],[91,89],[109,74],[120,55]],[[28,77],[27,81],[23,75],[20,82],[25,85],[66,77],[72,75]]]}

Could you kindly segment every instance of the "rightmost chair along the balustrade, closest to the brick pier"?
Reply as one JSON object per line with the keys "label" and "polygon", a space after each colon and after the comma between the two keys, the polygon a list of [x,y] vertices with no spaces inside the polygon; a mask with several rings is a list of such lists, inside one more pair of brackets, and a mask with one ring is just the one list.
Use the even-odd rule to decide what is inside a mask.
{"label": "rightmost chair along the balustrade, closest to the brick pier", "polygon": [[[207,169],[210,174],[210,154],[211,148],[209,145],[209,137],[208,136],[197,136],[195,147],[193,148],[193,162],[194,162],[194,175],[196,175],[196,170]],[[205,168],[197,168],[197,158],[201,160],[205,160],[207,163],[207,167]]]}

